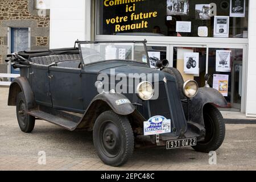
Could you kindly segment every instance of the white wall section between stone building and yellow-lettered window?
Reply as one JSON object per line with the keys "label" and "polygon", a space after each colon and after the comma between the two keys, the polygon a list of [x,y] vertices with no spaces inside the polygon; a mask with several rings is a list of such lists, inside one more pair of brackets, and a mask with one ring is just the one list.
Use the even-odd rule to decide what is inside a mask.
{"label": "white wall section between stone building and yellow-lettered window", "polygon": [[90,40],[90,0],[51,0],[50,48]]}

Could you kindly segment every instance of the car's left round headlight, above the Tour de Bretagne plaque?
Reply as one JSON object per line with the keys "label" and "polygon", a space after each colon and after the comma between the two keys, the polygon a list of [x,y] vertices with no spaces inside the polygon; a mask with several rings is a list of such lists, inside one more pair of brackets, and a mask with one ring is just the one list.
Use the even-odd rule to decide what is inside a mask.
{"label": "car's left round headlight, above the Tour de Bretagne plaque", "polygon": [[154,88],[150,82],[143,81],[137,86],[137,94],[144,101],[150,100],[154,95]]}

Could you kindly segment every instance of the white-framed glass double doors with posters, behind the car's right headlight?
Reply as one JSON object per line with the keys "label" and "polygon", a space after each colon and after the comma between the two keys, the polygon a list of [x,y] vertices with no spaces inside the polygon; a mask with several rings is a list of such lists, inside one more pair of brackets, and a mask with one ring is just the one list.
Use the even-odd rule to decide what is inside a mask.
{"label": "white-framed glass double doors with posters, behind the car's right headlight", "polygon": [[[228,102],[224,110],[245,111],[246,46],[170,45],[172,67],[185,80],[205,86],[205,74],[211,75],[210,87],[218,90]],[[222,109],[223,110],[223,109]]]}

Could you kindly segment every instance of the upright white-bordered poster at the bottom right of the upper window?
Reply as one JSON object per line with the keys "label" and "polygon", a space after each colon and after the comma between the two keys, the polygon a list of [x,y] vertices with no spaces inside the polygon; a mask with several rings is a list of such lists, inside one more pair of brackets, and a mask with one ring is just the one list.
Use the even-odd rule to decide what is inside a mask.
{"label": "upright white-bordered poster at the bottom right of the upper window", "polygon": [[214,37],[229,37],[229,16],[214,16]]}

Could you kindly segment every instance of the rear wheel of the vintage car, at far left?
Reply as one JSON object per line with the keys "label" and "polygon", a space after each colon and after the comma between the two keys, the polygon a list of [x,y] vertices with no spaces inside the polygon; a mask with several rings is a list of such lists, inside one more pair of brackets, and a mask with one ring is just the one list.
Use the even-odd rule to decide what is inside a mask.
{"label": "rear wheel of the vintage car, at far left", "polygon": [[18,93],[16,98],[16,115],[20,130],[31,133],[35,127],[35,117],[27,114],[27,105],[23,92]]}

